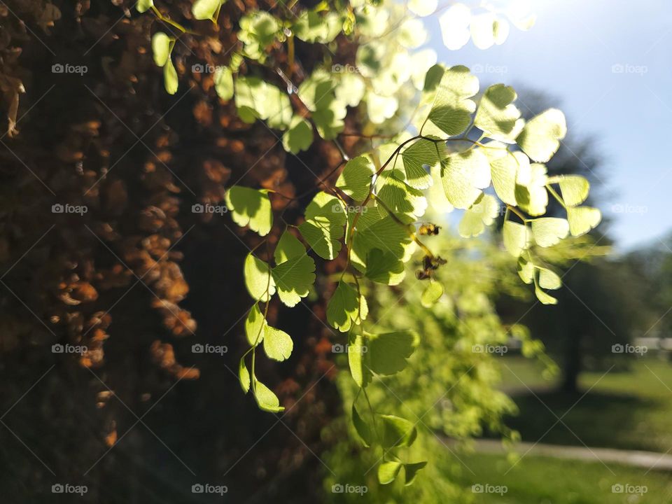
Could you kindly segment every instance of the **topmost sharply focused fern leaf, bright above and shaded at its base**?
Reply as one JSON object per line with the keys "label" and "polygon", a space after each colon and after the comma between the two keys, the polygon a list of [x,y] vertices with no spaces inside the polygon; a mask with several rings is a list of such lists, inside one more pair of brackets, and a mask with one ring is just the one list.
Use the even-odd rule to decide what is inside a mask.
{"label": "topmost sharply focused fern leaf, bright above and shaded at its base", "polygon": [[444,71],[421,134],[453,137],[466,130],[476,110],[470,97],[478,92],[478,87],[478,78],[466,66],[451,66]]}

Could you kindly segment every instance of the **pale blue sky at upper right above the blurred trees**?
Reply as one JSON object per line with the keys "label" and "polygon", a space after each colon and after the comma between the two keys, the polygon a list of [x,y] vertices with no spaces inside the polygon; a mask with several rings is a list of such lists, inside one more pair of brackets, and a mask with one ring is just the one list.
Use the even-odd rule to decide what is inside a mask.
{"label": "pale blue sky at upper right above the blurred trees", "polygon": [[572,134],[596,138],[605,157],[598,207],[612,218],[610,234],[621,251],[663,246],[658,237],[672,231],[666,141],[672,130],[671,5],[668,0],[537,0],[534,27],[512,27],[503,45],[488,50],[472,42],[448,50],[438,16],[426,18],[429,45],[439,61],[472,69],[481,65],[483,83],[543,90],[560,100]]}

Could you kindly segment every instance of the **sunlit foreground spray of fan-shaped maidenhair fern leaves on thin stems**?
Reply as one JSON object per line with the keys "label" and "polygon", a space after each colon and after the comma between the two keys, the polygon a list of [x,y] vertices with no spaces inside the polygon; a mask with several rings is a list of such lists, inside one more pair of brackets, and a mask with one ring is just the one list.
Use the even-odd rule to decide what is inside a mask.
{"label": "sunlit foreground spray of fan-shaped maidenhair fern leaves on thin stems", "polygon": [[[193,15],[216,23],[222,3],[199,0],[193,5]],[[282,407],[256,377],[256,349],[263,346],[273,360],[290,356],[290,335],[270,326],[266,316],[274,295],[293,307],[309,293],[316,279],[309,251],[323,260],[334,260],[344,248],[346,264],[328,302],[327,321],[347,335],[357,399],[367,397],[374,376],[402,371],[419,345],[419,337],[410,330],[365,330],[368,307],[363,285],[398,285],[405,278],[405,265],[421,251],[417,277],[428,280],[421,297],[423,306],[430,307],[444,292],[435,272],[446,260],[430,251],[421,241],[424,231],[417,229],[430,204],[442,211],[463,210],[459,232],[464,237],[482,234],[505,209],[504,246],[517,259],[521,279],[534,284],[538,299],[545,304],[556,302],[547,290],[559,288],[561,280],[535,250],[554,246],[569,235],[583,235],[601,219],[597,209],[581,206],[589,191],[587,180],[547,176],[543,163],[556,153],[566,134],[561,111],[549,109],[526,123],[514,104],[517,94],[511,87],[496,84],[479,94],[479,81],[466,67],[435,64],[435,55],[433,60],[427,53],[412,56],[409,50],[426,38],[421,22],[405,18],[406,6],[372,3],[337,1],[330,6],[321,2],[287,19],[260,10],[248,12],[239,20],[237,52],[214,78],[219,97],[235,99],[241,120],[262,120],[270,129],[283,132],[283,146],[292,153],[309,148],[314,132],[337,142],[349,108],[360,114],[361,136],[371,140],[367,151],[351,159],[344,155],[344,168],[335,186],[325,185],[314,196],[304,211],[304,222],[285,228],[272,253],[274,265],[254,251],[245,260],[246,287],[255,304],[245,323],[250,349],[240,360],[239,376],[243,390],[251,390],[259,407],[269,412]],[[411,2],[408,8],[423,15],[430,11],[428,3]],[[139,9],[150,8],[156,11],[151,0],[139,4]],[[455,8],[461,6],[449,10],[453,18],[459,14]],[[484,35],[488,30],[493,43],[503,41],[505,25],[493,16],[470,18],[469,33],[477,45],[488,45]],[[400,23],[393,28],[391,20],[395,19]],[[360,43],[356,71],[344,71],[327,57],[323,66],[295,86],[290,80],[294,38],[323,45],[341,35]],[[165,69],[168,92],[177,89],[171,62],[174,42],[162,32],[153,37],[155,62]],[[286,71],[276,68],[270,57],[278,45],[287,46]],[[286,89],[255,76],[252,69],[257,65],[269,66],[283,76]],[[302,106],[293,104],[292,95]],[[394,125],[395,133],[386,134]],[[262,237],[268,235],[274,226],[272,194],[231,187],[226,203],[233,221]],[[567,218],[544,216],[549,195],[566,209]],[[414,423],[400,416],[372,414],[372,423],[365,421],[353,403],[352,419],[360,438],[367,446],[375,444],[384,450],[379,481],[388,484],[403,469],[410,484],[425,462],[402,462],[398,449],[416,440]]]}

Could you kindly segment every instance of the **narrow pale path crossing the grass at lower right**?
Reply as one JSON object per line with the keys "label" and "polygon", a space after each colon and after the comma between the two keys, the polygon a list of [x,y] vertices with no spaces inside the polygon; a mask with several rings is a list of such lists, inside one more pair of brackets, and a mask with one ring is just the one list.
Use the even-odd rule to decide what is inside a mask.
{"label": "narrow pale path crossing the grass at lower right", "polygon": [[[497,440],[476,440],[476,451],[481,453],[505,453],[501,442]],[[622,450],[613,448],[588,448],[519,442],[514,445],[519,454],[568,458],[587,462],[618,463],[646,470],[672,471],[672,455],[654,451]]]}

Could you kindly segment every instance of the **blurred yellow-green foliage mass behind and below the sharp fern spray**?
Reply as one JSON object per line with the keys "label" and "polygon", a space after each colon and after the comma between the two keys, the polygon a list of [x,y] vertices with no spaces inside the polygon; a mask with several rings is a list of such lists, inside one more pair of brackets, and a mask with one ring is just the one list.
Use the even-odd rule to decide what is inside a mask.
{"label": "blurred yellow-green foliage mass behind and below the sharp fern spray", "polygon": [[[426,458],[436,463],[426,465],[423,469],[426,475],[412,488],[407,488],[406,477],[378,487],[371,469],[383,457],[395,461],[393,454],[377,446],[353,457],[353,451],[361,449],[358,450],[352,438],[361,440],[369,432],[356,421],[346,429],[351,435],[344,437],[346,427],[336,423],[324,434],[334,442],[324,460],[337,475],[327,478],[325,489],[348,481],[368,487],[367,502],[468,502],[469,495],[462,495],[459,486],[446,475],[469,470],[461,462],[461,451],[468,451],[470,438],[480,437],[487,430],[503,435],[507,443],[517,439],[517,433],[502,422],[504,415],[515,411],[515,405],[497,390],[498,359],[493,353],[474,349],[486,344],[507,345],[509,338],[514,337],[521,343],[523,356],[538,358],[545,364],[545,374],[556,371],[554,363],[542,353],[543,346],[530,339],[525,328],[505,326],[496,314],[493,297],[502,293],[521,294],[521,286],[510,272],[508,253],[489,241],[464,240],[449,233],[435,241],[437,250],[451,258],[451,268],[435,274],[436,284],[444,286],[446,293],[433,309],[423,307],[423,290],[412,275],[398,289],[376,285],[367,289],[371,317],[381,328],[396,332],[413,328],[423,335],[404,372],[374,377],[367,387],[366,398],[349,377],[340,377],[338,385],[344,401],[356,402],[357,416],[353,413],[353,418],[361,416],[370,425],[377,423],[380,429],[381,420],[374,411],[384,407],[390,414],[409,419],[418,435],[412,447],[402,450],[405,456],[409,460]],[[443,436],[456,444],[446,447]],[[457,456],[449,456],[451,451]],[[357,494],[351,498],[331,497],[330,502],[361,500]]]}

